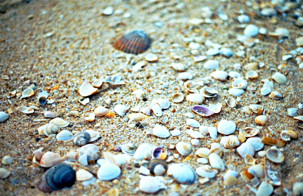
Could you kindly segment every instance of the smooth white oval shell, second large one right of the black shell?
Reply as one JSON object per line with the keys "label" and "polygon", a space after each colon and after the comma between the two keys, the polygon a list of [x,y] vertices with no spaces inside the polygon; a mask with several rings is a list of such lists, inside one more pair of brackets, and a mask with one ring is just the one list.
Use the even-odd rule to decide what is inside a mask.
{"label": "smooth white oval shell, second large one right of the black shell", "polygon": [[113,163],[104,163],[100,166],[97,177],[100,180],[112,180],[120,176],[121,169]]}

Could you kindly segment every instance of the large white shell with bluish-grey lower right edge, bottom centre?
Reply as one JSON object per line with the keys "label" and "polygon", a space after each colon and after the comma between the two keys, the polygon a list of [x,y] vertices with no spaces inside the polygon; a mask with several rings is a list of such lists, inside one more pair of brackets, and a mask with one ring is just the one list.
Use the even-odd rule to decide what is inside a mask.
{"label": "large white shell with bluish-grey lower right edge, bottom centre", "polygon": [[193,168],[187,164],[175,164],[172,176],[181,184],[193,184],[198,176]]}

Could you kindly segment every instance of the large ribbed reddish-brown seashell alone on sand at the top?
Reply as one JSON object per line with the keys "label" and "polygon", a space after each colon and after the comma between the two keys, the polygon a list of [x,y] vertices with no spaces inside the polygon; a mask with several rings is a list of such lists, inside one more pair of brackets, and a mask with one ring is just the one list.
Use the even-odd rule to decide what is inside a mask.
{"label": "large ribbed reddish-brown seashell alone on sand at the top", "polygon": [[113,46],[117,50],[138,55],[145,52],[149,48],[150,44],[151,39],[148,37],[146,32],[135,30],[122,35],[113,43]]}

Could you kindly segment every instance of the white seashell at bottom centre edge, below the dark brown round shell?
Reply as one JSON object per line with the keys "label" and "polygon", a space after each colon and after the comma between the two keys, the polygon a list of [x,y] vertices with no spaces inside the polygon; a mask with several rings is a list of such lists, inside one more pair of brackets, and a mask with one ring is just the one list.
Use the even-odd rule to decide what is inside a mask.
{"label": "white seashell at bottom centre edge, below the dark brown round shell", "polygon": [[143,176],[139,181],[139,190],[145,193],[156,193],[166,188],[165,184],[156,177]]}

